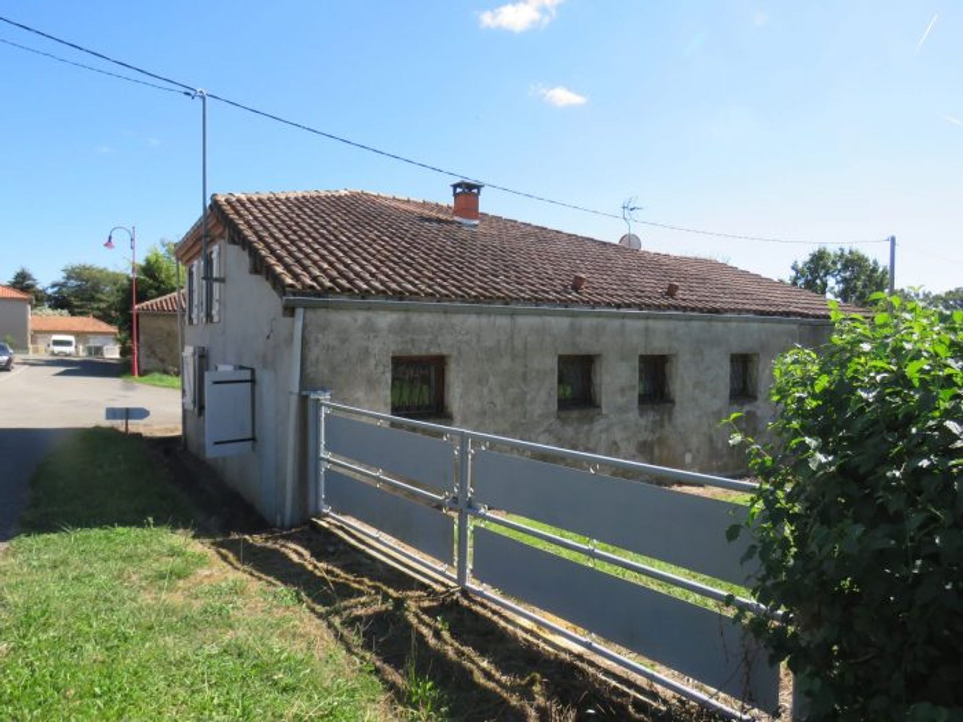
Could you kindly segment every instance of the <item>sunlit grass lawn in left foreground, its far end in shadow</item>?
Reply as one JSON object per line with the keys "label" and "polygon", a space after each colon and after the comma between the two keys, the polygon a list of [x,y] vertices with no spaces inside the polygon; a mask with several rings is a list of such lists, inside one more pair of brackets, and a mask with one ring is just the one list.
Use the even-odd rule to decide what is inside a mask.
{"label": "sunlit grass lawn in left foreground, its far end in shadow", "polygon": [[78,432],[0,550],[4,720],[381,720],[294,590],[228,565],[143,440]]}

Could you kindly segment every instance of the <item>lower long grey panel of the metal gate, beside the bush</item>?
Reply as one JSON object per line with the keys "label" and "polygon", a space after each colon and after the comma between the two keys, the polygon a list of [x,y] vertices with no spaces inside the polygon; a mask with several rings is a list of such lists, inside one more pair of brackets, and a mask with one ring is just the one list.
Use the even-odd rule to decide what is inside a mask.
{"label": "lower long grey panel of the metal gate, beside the bush", "polygon": [[728,617],[487,529],[474,536],[479,580],[736,699],[778,707],[778,667]]}

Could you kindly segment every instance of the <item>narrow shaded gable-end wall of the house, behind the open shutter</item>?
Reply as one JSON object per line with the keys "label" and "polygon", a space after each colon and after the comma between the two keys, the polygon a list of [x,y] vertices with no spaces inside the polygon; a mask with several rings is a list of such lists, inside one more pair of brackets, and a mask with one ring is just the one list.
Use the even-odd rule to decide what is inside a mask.
{"label": "narrow shaded gable-end wall of the house, behind the open shutter", "polygon": [[[187,346],[207,348],[207,368],[232,364],[254,369],[254,451],[209,459],[221,477],[272,524],[283,511],[287,469],[293,320],[283,316],[281,299],[260,275],[248,272],[247,253],[221,242],[221,320],[189,325]],[[189,449],[204,457],[204,419],[187,411],[184,433]],[[303,484],[301,484],[303,486]],[[296,504],[302,506],[302,501]]]}

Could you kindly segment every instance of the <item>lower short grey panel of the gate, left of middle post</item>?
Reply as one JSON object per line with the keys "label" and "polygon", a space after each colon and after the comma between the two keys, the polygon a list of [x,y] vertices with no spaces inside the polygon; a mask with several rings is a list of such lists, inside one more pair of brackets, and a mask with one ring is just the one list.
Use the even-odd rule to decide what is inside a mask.
{"label": "lower short grey panel of the gate, left of middle post", "polygon": [[370,527],[446,564],[455,555],[455,521],[440,511],[409,502],[334,471],[325,472],[325,502]]}

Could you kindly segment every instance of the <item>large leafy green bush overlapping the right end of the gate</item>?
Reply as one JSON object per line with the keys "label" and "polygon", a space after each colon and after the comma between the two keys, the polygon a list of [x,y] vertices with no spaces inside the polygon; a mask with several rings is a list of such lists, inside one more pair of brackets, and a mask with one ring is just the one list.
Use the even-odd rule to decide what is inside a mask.
{"label": "large leafy green bush overlapping the right end of the gate", "polygon": [[787,624],[747,622],[810,720],[963,718],[963,311],[888,303],[834,309],[827,348],[776,363],[773,441],[733,436],[762,484],[730,538]]}

